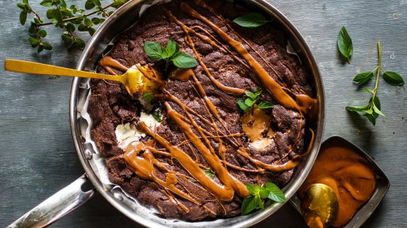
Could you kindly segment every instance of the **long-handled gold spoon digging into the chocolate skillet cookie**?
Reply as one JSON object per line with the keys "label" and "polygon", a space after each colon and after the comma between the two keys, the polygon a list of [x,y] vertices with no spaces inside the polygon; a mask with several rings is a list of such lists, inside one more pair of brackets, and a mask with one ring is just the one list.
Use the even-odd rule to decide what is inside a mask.
{"label": "long-handled gold spoon digging into the chocolate skillet cookie", "polygon": [[[4,70],[25,74],[45,74],[56,76],[79,76],[82,78],[118,81],[125,86],[130,95],[143,95],[144,92],[157,93],[158,83],[154,82],[155,72],[148,65],[134,65],[122,75],[98,74],[43,63],[6,59]],[[157,81],[157,80],[155,80]]]}

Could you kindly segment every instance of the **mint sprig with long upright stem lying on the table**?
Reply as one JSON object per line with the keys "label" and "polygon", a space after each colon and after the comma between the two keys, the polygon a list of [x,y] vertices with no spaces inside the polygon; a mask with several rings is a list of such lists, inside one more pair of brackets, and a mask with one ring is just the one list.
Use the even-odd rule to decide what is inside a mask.
{"label": "mint sprig with long upright stem lying on the table", "polygon": [[381,66],[381,44],[380,41],[377,42],[378,47],[378,65],[374,70],[371,72],[364,72],[358,74],[353,78],[353,81],[358,85],[363,85],[370,81],[371,78],[374,76],[374,72],[376,72],[376,83],[373,90],[369,90],[369,88],[363,88],[366,92],[372,94],[372,97],[369,99],[369,103],[365,106],[346,106],[348,111],[354,112],[361,112],[367,119],[371,122],[371,124],[376,125],[376,119],[379,115],[385,116],[381,111],[381,102],[377,96],[378,90],[378,79],[380,76],[380,72],[383,72],[383,79],[385,82],[389,83],[393,86],[403,86],[404,80],[403,78],[397,74],[396,72],[386,72],[383,67]]}

